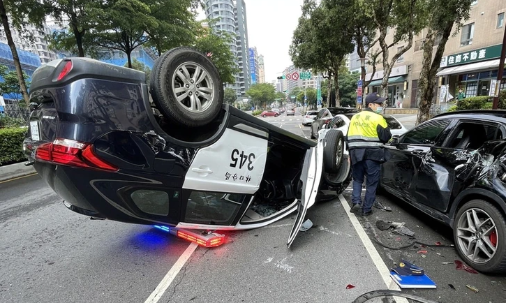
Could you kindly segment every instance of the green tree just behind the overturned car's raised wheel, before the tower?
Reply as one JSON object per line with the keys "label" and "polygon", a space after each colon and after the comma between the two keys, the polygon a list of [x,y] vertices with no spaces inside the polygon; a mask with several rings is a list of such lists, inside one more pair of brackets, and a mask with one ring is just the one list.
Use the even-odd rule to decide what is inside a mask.
{"label": "green tree just behind the overturned car's raised wheel, before the tower", "polygon": [[204,29],[204,34],[197,38],[194,45],[197,50],[207,54],[213,61],[224,83],[235,83],[235,74],[239,72],[234,54],[230,50],[232,41],[230,34],[213,31],[209,27]]}

